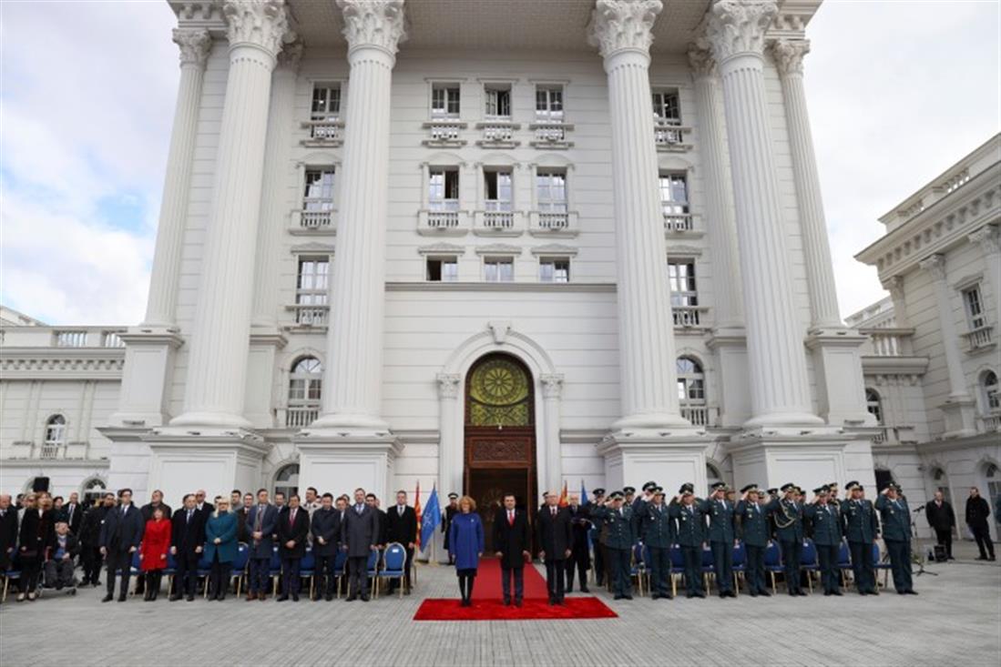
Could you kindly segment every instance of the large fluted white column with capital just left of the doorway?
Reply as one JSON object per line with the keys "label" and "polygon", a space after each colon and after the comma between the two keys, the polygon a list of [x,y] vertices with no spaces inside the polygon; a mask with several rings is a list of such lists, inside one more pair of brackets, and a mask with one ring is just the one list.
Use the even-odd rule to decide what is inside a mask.
{"label": "large fluted white column with capital just left of the doorway", "polygon": [[337,255],[323,414],[312,426],[384,432],[379,417],[385,216],[389,177],[389,94],[396,49],[405,38],[403,0],[337,0],[350,64]]}

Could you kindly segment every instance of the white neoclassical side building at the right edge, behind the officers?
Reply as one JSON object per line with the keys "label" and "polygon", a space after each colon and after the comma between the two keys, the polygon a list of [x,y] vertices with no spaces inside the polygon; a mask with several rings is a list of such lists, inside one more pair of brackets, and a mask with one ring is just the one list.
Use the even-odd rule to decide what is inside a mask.
{"label": "white neoclassical side building at the right edge, behind the officers", "polygon": [[862,365],[880,423],[876,475],[911,498],[943,491],[962,534],[970,487],[992,511],[1001,495],[1001,135],[880,222],[885,235],[857,258],[879,269],[890,296],[848,318],[869,337]]}

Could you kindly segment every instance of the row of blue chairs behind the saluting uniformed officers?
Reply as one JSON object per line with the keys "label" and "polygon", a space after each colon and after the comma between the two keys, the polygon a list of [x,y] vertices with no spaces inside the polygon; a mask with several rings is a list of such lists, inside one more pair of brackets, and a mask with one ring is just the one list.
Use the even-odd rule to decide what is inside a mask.
{"label": "row of blue chairs behind the saluting uniformed officers", "polygon": [[[872,549],[873,567],[883,571],[883,586],[886,587],[889,577],[890,564],[885,559],[880,558],[878,544],[873,544]],[[650,548],[642,542],[633,547],[633,563],[631,568],[632,576],[637,580],[637,588],[640,595],[650,592],[651,570],[648,567],[650,562]],[[807,572],[807,583],[810,591],[813,592],[813,579],[820,577],[820,559],[817,554],[817,546],[813,540],[806,538],[803,540],[803,555],[800,558],[800,568]],[[852,558],[848,549],[848,543],[842,541],[838,549],[837,568],[845,576],[846,580],[851,578]],[[740,591],[740,578],[747,571],[747,552],[743,542],[738,542],[734,547],[734,590]],[[769,574],[772,582],[772,592],[777,592],[775,575],[785,571],[782,560],[782,547],[775,540],[770,540],[765,550],[765,571]],[[677,544],[671,547],[671,588],[672,593],[678,594],[678,581],[685,573],[685,557],[682,549]],[[711,582],[716,579],[715,561],[713,550],[706,547],[702,550],[702,573],[706,585],[706,590],[710,590]],[[611,586],[611,581],[609,582]]]}

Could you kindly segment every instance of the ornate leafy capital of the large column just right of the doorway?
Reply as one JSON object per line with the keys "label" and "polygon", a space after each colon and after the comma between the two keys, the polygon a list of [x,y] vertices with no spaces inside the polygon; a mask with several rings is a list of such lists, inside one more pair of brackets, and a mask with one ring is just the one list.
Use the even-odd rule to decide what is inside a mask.
{"label": "ornate leafy capital of the large column just right of the doorway", "polygon": [[598,0],[591,13],[588,43],[604,58],[621,51],[650,54],[651,29],[664,8],[661,0]]}

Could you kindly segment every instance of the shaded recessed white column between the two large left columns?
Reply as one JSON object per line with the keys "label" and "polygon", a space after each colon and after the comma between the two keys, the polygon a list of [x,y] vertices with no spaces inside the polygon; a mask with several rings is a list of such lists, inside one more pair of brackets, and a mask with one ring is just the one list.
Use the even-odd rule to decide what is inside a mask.
{"label": "shaded recessed white column between the two large left columns", "polygon": [[267,114],[264,179],[260,190],[260,228],[257,230],[251,322],[273,328],[278,311],[278,257],[285,231],[288,205],[289,147],[295,120],[295,80],[302,43],[285,44],[278,53],[271,77],[271,106]]}

